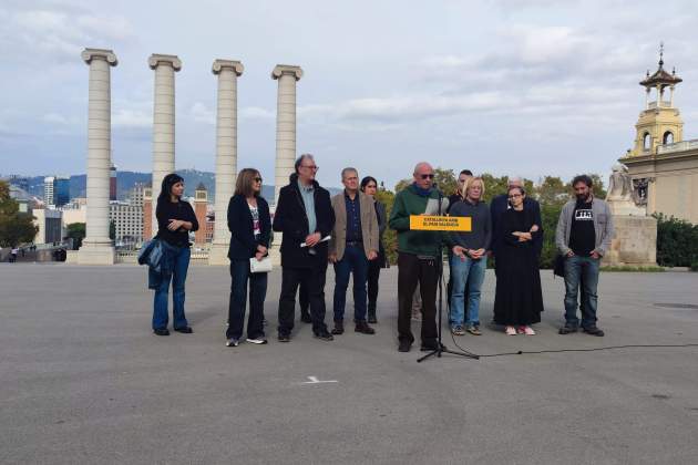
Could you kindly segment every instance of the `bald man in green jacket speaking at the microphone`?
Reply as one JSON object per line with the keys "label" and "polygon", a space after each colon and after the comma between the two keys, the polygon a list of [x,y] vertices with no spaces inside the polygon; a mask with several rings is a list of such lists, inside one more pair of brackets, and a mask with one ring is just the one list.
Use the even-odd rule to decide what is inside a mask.
{"label": "bald man in green jacket speaking at the microphone", "polygon": [[[411,215],[435,214],[439,192],[429,163],[414,167],[414,182],[398,193],[389,225],[398,232],[398,340],[400,352],[409,352],[414,335],[410,326],[412,294],[420,286],[422,297],[422,350],[438,349],[437,282],[441,259],[441,232],[410,230]],[[445,207],[443,207],[445,213]]]}

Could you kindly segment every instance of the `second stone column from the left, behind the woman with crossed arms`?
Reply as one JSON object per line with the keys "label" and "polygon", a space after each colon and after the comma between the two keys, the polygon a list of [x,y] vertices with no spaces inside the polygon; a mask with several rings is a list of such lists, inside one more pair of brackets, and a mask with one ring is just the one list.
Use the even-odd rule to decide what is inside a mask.
{"label": "second stone column from the left, behind the woman with crossed arms", "polygon": [[[155,71],[155,99],[153,105],[153,236],[157,234],[155,199],[160,195],[163,178],[174,173],[175,157],[175,105],[174,73],[182,69],[175,55],[152,54],[147,59]],[[150,239],[150,238],[148,238]]]}

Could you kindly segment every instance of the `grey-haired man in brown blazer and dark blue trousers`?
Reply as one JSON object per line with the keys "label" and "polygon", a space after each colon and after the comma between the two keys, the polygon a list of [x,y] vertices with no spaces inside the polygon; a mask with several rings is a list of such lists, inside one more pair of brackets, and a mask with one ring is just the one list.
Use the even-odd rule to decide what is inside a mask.
{"label": "grey-haired man in brown blazer and dark blue trousers", "polygon": [[355,332],[373,334],[366,321],[369,260],[378,258],[378,217],[373,199],[359,190],[356,168],[341,170],[345,190],[332,197],[335,229],[329,244],[329,260],[335,265],[335,328],[332,334],[345,332],[345,307],[349,277],[353,277]]}

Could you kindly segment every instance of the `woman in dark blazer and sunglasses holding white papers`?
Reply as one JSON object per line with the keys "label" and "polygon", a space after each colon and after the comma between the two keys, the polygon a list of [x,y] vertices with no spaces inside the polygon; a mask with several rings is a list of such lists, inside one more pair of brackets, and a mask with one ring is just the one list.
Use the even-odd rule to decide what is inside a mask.
{"label": "woman in dark blazer and sunglasses holding white papers", "polygon": [[261,261],[268,255],[271,235],[269,205],[261,197],[261,176],[254,168],[237,175],[235,194],[228,203],[230,229],[230,302],[226,345],[237,347],[243,337],[245,302],[249,282],[249,317],[247,342],[266,344],[264,333],[264,300],[267,296],[267,273],[252,272],[250,259]]}

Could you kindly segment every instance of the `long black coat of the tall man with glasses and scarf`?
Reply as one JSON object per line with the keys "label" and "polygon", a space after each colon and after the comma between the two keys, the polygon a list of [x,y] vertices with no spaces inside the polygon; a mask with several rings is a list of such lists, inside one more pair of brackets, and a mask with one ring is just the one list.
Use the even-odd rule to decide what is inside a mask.
{"label": "long black coat of the tall man with glasses and scarf", "polygon": [[298,188],[298,178],[291,176],[290,183],[281,187],[279,199],[274,213],[274,230],[283,232],[281,239],[281,266],[292,268],[311,268],[318,265],[327,265],[328,242],[320,242],[314,247],[315,255],[308,247],[300,247],[306,237],[311,232],[320,232],[325,238],[335,227],[335,211],[330,204],[329,192],[314,182],[315,215],[317,227],[315,231],[308,231],[308,216],[306,206]]}

